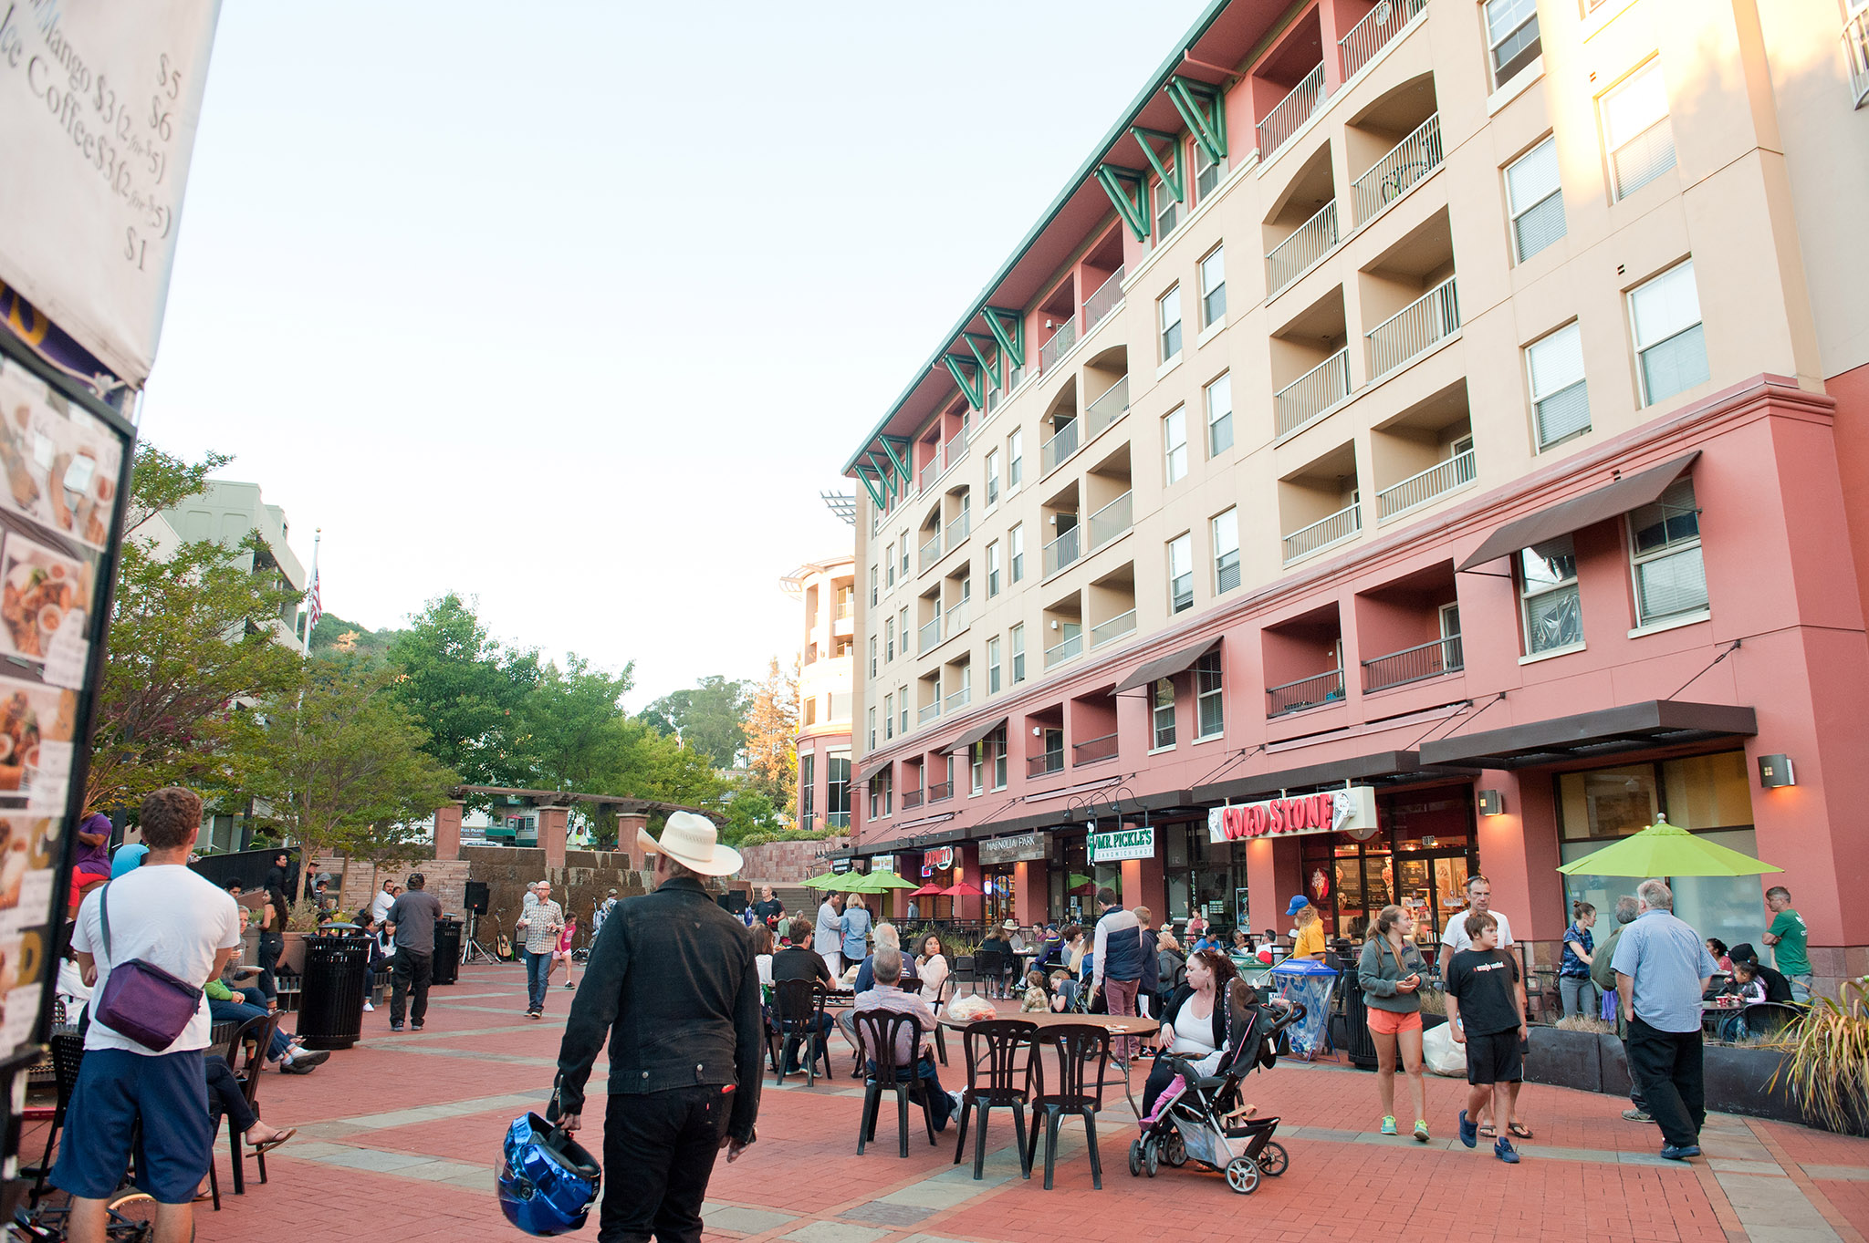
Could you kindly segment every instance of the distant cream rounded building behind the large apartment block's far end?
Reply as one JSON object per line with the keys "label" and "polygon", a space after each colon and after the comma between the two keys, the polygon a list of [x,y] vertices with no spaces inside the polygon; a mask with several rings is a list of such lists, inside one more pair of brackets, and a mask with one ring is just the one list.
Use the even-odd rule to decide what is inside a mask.
{"label": "distant cream rounded building behind the large apartment block's far end", "polygon": [[[850,681],[856,674],[856,562],[806,562],[779,580],[804,605],[798,655],[800,829],[850,825]],[[875,646],[875,644],[871,644]],[[877,653],[869,653],[875,661]],[[880,664],[877,666],[880,670]]]}

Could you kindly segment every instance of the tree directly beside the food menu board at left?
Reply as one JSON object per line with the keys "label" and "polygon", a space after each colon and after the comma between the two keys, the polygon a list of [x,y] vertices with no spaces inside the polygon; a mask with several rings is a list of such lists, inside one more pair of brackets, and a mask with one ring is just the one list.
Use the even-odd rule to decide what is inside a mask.
{"label": "tree directly beside the food menu board at left", "polygon": [[[151,446],[136,450],[131,523],[202,491],[228,457],[185,463]],[[241,551],[258,551],[247,534]],[[92,720],[86,806],[135,804],[163,786],[204,793],[239,789],[241,745],[254,728],[243,704],[297,685],[299,653],[278,642],[280,614],[299,594],[239,567],[211,539],[178,545],[166,558],[135,526],[118,560],[116,603],[103,689]]]}

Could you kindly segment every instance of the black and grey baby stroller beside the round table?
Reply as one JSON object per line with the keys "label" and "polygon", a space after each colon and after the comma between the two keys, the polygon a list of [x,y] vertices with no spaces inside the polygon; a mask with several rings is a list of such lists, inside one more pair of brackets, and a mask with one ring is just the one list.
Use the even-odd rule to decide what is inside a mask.
{"label": "black and grey baby stroller beside the round table", "polygon": [[[1282,1013],[1254,1006],[1252,1028],[1239,1040],[1234,1056],[1217,1075],[1202,1075],[1189,1058],[1163,1053],[1179,1081],[1170,1084],[1155,1103],[1153,1118],[1144,1120],[1142,1137],[1129,1146],[1129,1174],[1155,1178],[1159,1163],[1172,1166],[1194,1161],[1202,1168],[1226,1174],[1226,1185],[1248,1196],[1260,1187],[1260,1176],[1278,1178],[1291,1165],[1284,1144],[1273,1138],[1277,1118],[1235,1118],[1239,1109],[1239,1081],[1278,1060],[1278,1034],[1305,1017],[1303,1004],[1290,1004]],[[1174,1094],[1174,1096],[1170,1096]],[[1136,1109],[1134,1099],[1129,1101]]]}

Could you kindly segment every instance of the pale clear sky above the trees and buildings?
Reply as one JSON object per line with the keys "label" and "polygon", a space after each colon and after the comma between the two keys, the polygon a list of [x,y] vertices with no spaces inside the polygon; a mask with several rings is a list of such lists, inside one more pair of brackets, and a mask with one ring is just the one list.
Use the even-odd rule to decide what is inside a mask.
{"label": "pale clear sky above the trees and buildings", "polygon": [[763,676],[819,493],[1200,7],[228,4],[142,439],[350,622]]}

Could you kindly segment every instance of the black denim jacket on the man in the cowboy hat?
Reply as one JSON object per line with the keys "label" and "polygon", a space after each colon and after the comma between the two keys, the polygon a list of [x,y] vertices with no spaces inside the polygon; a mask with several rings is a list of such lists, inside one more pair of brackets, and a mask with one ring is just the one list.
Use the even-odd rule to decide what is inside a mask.
{"label": "black denim jacket on the man in the cowboy hat", "polygon": [[557,1112],[583,1112],[604,1032],[611,1096],[731,1084],[727,1135],[753,1138],[764,1056],[753,937],[693,877],[604,920],[559,1045]]}

